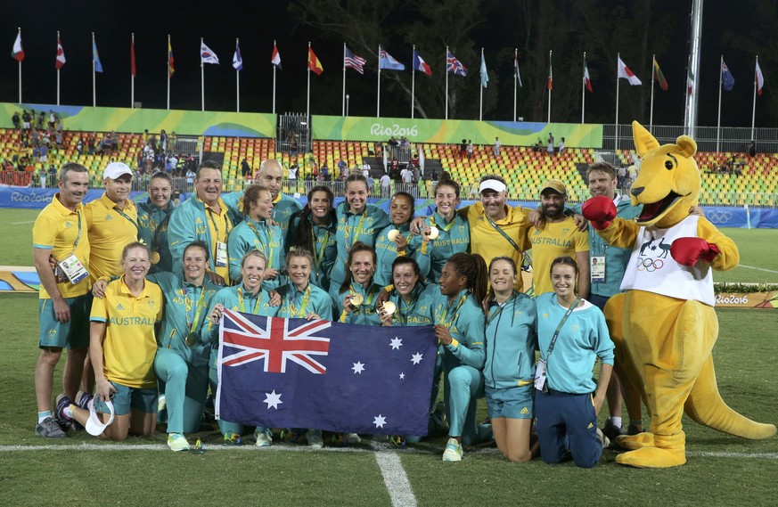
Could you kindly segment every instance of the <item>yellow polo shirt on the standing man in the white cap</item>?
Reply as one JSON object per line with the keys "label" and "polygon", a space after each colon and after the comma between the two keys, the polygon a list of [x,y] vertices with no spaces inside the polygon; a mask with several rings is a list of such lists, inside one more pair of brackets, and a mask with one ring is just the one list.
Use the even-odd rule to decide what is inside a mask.
{"label": "yellow polo shirt on the standing man in the white cap", "polygon": [[135,202],[127,200],[124,209],[104,193],[102,197],[84,207],[86,224],[89,227],[89,274],[92,282],[101,276],[119,276],[121,250],[132,241],[138,240],[138,209]]}

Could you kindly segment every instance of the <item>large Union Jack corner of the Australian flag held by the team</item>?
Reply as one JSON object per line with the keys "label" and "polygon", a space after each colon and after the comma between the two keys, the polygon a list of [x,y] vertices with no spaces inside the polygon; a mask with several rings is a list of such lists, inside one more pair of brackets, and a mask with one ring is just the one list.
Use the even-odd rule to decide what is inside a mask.
{"label": "large Union Jack corner of the Australian flag held by the team", "polygon": [[[301,322],[302,325],[294,325]],[[287,362],[291,361],[308,372],[324,373],[327,368],[316,356],[327,356],[330,338],[317,333],[331,325],[329,321],[290,321],[225,310],[220,354],[222,366],[262,361],[264,372],[285,373]]]}

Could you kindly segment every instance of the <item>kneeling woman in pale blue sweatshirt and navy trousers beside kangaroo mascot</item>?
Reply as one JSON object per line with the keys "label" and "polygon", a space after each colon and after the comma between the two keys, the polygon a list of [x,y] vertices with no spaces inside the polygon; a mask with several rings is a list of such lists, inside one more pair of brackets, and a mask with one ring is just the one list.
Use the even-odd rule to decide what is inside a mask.
{"label": "kneeling woman in pale blue sweatshirt and navy trousers beside kangaroo mascot", "polygon": [[[553,259],[553,292],[536,298],[541,352],[535,381],[536,430],[544,462],[561,462],[570,453],[577,466],[591,468],[604,446],[597,413],[613,368],[613,342],[600,308],[577,297],[577,277],[575,260]],[[592,368],[597,358],[600,380],[595,383]]]}

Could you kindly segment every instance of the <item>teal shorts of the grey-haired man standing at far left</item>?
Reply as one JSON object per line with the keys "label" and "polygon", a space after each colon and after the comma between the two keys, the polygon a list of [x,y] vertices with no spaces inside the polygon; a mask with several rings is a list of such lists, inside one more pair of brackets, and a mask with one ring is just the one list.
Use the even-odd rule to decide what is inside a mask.
{"label": "teal shorts of the grey-haired man standing at far left", "polygon": [[92,311],[92,294],[65,298],[70,308],[70,321],[61,323],[54,315],[51,299],[38,299],[40,315],[40,342],[38,347],[88,348],[89,314]]}

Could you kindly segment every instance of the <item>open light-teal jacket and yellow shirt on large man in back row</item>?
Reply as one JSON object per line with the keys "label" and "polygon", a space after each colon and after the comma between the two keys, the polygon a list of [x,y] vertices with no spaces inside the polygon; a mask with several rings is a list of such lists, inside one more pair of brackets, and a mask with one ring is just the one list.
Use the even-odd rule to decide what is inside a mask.
{"label": "open light-teal jacket and yellow shirt on large man in back row", "polygon": [[219,274],[230,282],[229,263],[216,266],[217,242],[227,243],[227,237],[233,230],[233,221],[228,216],[229,208],[221,199],[219,212],[206,205],[196,193],[181,203],[168,220],[168,246],[173,256],[173,273],[184,269],[184,249],[192,241],[204,241],[209,245],[209,270]]}

